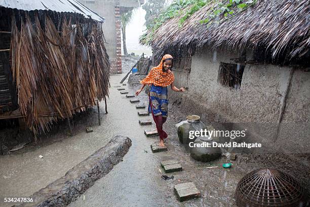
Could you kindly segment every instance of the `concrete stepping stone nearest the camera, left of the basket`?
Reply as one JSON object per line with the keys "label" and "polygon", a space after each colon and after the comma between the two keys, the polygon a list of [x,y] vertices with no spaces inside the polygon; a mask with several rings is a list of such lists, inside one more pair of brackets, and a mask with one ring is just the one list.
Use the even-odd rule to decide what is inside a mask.
{"label": "concrete stepping stone nearest the camera, left of the basket", "polygon": [[199,198],[200,192],[192,182],[181,183],[174,186],[174,192],[180,202],[192,198]]}

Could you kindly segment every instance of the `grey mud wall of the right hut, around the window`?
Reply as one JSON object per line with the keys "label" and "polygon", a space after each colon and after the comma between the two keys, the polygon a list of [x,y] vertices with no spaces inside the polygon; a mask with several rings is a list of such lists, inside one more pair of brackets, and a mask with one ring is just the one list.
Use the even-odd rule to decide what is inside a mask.
{"label": "grey mud wall of the right hut, around the window", "polygon": [[[183,113],[200,115],[209,123],[229,123],[225,127],[230,130],[248,128],[248,139],[262,143],[269,150],[309,153],[310,72],[295,68],[276,138],[276,125],[292,68],[246,65],[240,90],[222,86],[218,82],[220,62],[232,63],[230,58],[240,55],[208,48],[196,53],[192,56],[188,78],[174,72],[177,86],[187,85],[188,90],[183,94],[170,90],[170,102],[181,97],[179,110]],[[246,59],[253,59],[251,51],[247,51]]]}

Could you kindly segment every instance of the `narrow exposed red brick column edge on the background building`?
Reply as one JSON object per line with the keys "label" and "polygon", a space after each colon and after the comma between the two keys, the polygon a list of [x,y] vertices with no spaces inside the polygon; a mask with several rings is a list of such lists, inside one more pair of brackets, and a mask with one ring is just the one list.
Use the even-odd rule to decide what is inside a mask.
{"label": "narrow exposed red brick column edge on the background building", "polygon": [[115,36],[116,36],[116,59],[110,59],[110,73],[122,73],[122,51],[121,51],[121,12],[120,2],[115,3]]}

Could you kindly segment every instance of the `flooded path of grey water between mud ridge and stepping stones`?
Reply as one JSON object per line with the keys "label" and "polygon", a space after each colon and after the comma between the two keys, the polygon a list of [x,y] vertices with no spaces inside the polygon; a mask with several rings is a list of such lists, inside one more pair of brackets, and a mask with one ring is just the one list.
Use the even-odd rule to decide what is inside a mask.
{"label": "flooded path of grey water between mud ridge and stepping stones", "polygon": [[[137,110],[135,103],[130,103],[126,95],[113,88],[120,80],[120,76],[111,78],[110,99],[120,107],[117,114],[111,115],[110,121],[113,120],[115,125],[119,125],[117,129],[113,129],[116,134],[130,137],[132,147],[124,156],[123,162],[114,166],[108,175],[96,181],[93,187],[69,206],[162,206],[164,203],[174,206],[174,198],[167,199],[165,196],[167,185],[161,180],[161,158],[150,150],[150,144],[158,141],[158,138],[146,138],[144,135],[145,129],[150,130],[155,125],[139,125],[137,112],[145,109]],[[130,91],[134,92],[134,89]],[[139,96],[140,102],[147,100],[143,93]],[[151,119],[151,116],[140,119]]]}

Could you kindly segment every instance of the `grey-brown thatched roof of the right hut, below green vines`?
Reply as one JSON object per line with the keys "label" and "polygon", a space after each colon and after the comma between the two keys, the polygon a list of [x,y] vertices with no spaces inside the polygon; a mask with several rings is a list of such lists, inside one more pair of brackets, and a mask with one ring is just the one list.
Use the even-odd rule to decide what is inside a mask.
{"label": "grey-brown thatched roof of the right hut, below green vines", "polygon": [[[178,27],[181,17],[165,22],[156,30],[149,45],[155,58],[176,51],[189,53],[204,45],[227,48],[265,48],[273,58],[289,59],[309,54],[310,4],[308,0],[258,0],[245,11],[222,20],[223,15],[210,19],[213,23],[201,24],[208,11],[215,7],[214,1],[188,18]],[[209,18],[209,17],[208,17]],[[215,21],[217,23],[215,23]],[[142,44],[147,44],[142,41]]]}

